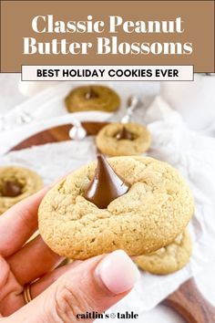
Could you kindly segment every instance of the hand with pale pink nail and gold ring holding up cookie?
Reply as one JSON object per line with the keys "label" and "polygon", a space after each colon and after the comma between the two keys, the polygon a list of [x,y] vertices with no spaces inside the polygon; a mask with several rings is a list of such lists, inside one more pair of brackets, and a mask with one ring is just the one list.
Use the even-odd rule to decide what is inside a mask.
{"label": "hand with pale pink nail and gold ring holding up cookie", "polygon": [[[138,278],[138,269],[123,251],[56,268],[63,258],[40,235],[26,244],[36,232],[37,210],[46,191],[0,216],[0,322],[82,321],[78,314],[105,311],[125,297]],[[31,282],[33,300],[26,305],[23,290]]]}

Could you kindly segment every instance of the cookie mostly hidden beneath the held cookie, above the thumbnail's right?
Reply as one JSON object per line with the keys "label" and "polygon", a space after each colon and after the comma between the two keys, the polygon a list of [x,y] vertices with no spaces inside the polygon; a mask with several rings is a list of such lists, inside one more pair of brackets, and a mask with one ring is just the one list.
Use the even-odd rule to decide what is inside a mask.
{"label": "cookie mostly hidden beneath the held cookie, above the thumbnail's right", "polygon": [[189,263],[192,244],[189,231],[182,234],[167,246],[150,255],[140,255],[135,262],[142,270],[156,275],[167,275],[178,271]]}

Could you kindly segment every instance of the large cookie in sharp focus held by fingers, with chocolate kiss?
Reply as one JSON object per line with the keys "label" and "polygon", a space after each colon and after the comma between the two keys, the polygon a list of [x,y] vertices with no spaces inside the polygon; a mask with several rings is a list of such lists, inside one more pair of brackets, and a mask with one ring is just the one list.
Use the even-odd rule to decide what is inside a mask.
{"label": "large cookie in sharp focus held by fingers, with chocolate kiss", "polygon": [[52,250],[86,259],[117,249],[154,252],[184,231],[193,212],[188,184],[168,163],[100,155],[46,193],[38,220]]}

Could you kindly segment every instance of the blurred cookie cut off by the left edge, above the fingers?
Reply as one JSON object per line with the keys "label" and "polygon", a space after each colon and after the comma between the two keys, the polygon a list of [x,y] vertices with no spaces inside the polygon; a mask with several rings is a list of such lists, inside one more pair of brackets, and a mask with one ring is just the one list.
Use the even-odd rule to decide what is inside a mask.
{"label": "blurred cookie cut off by the left edge, above the fingers", "polygon": [[0,167],[0,214],[42,187],[36,172],[19,166]]}

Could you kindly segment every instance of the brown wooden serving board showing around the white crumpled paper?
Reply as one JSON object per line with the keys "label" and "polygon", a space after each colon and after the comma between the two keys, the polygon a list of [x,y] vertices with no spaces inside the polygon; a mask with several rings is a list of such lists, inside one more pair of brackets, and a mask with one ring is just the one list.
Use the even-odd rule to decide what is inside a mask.
{"label": "brown wooden serving board showing around the white crumpled paper", "polygon": [[[107,122],[82,123],[87,130],[87,135],[96,135],[106,124]],[[67,124],[38,132],[16,145],[12,151],[50,142],[67,141],[69,140],[68,131],[71,128],[71,124]],[[200,294],[193,278],[185,282],[161,304],[176,310],[188,323],[215,323],[215,307],[212,307]]]}

